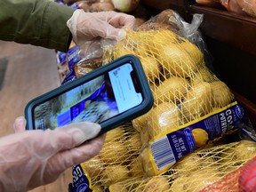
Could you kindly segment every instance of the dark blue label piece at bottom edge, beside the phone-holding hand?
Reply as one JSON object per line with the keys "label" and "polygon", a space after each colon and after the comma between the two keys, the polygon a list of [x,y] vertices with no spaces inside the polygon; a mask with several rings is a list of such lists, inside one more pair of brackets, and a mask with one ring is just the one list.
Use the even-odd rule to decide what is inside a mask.
{"label": "dark blue label piece at bottom edge, beside the phone-holding hand", "polygon": [[87,179],[84,170],[80,164],[72,167],[73,175],[73,192],[92,192],[92,189],[89,185],[89,180]]}

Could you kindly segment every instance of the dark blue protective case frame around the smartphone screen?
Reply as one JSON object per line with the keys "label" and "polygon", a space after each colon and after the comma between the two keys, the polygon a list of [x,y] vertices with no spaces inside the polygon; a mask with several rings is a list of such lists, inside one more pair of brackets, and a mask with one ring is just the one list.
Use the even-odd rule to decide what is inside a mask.
{"label": "dark blue protective case frame around the smartphone screen", "polygon": [[85,76],[79,77],[78,79],[72,82],[69,82],[68,84],[63,84],[59,88],[54,89],[51,92],[46,92],[43,95],[37,97],[36,99],[29,101],[28,105],[25,108],[25,117],[27,119],[27,130],[36,129],[33,122],[34,117],[32,114],[34,108],[36,108],[36,105],[43,103],[47,100],[51,100],[52,98],[64,92],[68,92],[74,87],[84,84],[85,82],[92,80],[94,77],[100,76],[104,74],[106,71],[114,69],[118,66],[121,66],[122,64],[127,63],[129,61],[132,61],[131,62],[132,67],[136,72],[136,75],[138,76],[138,80],[139,80],[138,83],[141,86],[143,101],[139,106],[135,108],[131,108],[127,111],[124,111],[118,116],[114,116],[108,119],[107,121],[100,123],[101,125],[100,133],[108,132],[109,130],[114,129],[121,124],[131,121],[133,118],[136,118],[137,116],[141,116],[147,113],[148,110],[152,108],[154,103],[153,95],[148,84],[148,78],[144,73],[140,60],[134,55],[125,55],[119,59],[113,60],[107,65],[104,65],[100,68],[93,70],[92,72],[86,74]]}

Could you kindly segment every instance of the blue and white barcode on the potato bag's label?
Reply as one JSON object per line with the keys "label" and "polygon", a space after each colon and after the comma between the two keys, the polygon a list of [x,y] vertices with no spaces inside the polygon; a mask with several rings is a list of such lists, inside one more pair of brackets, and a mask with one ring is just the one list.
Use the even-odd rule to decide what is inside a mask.
{"label": "blue and white barcode on the potato bag's label", "polygon": [[167,136],[161,137],[151,142],[151,153],[154,157],[158,171],[176,163],[172,148]]}

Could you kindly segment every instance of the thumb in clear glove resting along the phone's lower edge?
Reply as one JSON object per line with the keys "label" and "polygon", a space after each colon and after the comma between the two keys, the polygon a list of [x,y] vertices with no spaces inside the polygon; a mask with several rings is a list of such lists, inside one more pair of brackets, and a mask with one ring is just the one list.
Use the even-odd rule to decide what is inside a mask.
{"label": "thumb in clear glove resting along the phone's lower edge", "polygon": [[21,139],[26,142],[26,139],[29,138],[27,145],[33,146],[30,150],[32,155],[44,160],[45,158],[55,156],[60,151],[76,148],[84,143],[84,141],[95,138],[99,134],[100,129],[100,124],[80,122],[44,132],[36,132],[38,130],[23,132],[27,134],[24,137],[22,136]]}

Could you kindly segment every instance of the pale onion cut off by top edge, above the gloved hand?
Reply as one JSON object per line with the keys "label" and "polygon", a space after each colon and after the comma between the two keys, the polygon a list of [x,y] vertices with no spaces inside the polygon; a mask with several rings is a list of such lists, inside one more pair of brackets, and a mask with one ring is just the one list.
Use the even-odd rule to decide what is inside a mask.
{"label": "pale onion cut off by top edge, above the gloved hand", "polygon": [[140,4],[140,0],[112,0],[112,4],[120,12],[132,12]]}

